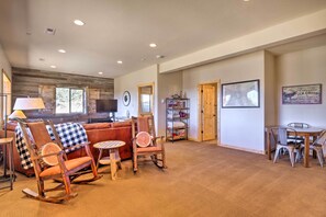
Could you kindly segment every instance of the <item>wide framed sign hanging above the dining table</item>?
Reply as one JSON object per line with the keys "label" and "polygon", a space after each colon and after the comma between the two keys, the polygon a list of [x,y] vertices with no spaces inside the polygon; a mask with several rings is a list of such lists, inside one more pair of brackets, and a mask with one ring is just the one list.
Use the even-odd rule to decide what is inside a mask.
{"label": "wide framed sign hanging above the dining table", "polygon": [[282,104],[322,104],[322,84],[282,87]]}

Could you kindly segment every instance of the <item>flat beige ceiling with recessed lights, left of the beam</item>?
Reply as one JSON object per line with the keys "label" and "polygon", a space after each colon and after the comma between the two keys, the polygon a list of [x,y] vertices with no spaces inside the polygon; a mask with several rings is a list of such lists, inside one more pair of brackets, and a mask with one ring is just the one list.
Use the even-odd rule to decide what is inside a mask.
{"label": "flat beige ceiling with recessed lights, left of the beam", "polygon": [[14,67],[114,78],[325,8],[326,0],[1,0],[0,43]]}

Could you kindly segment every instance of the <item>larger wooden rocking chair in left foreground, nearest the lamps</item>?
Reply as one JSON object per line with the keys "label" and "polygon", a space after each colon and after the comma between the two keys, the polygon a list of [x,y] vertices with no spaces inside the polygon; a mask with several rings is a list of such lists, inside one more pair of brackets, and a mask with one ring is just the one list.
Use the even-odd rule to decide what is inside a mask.
{"label": "larger wooden rocking chair in left foreground, nearest the lamps", "polygon": [[[52,122],[48,122],[54,135],[55,141],[46,129],[46,122],[23,123],[19,122],[19,126],[23,133],[25,145],[31,155],[35,178],[37,182],[38,194],[30,189],[23,190],[23,193],[29,197],[34,197],[40,201],[61,203],[68,201],[77,193],[71,192],[70,184],[92,182],[101,176],[98,175],[94,159],[90,152],[88,142],[75,146],[76,148],[85,148],[87,156],[67,159],[64,146],[60,142],[59,136]],[[47,150],[46,150],[47,149]],[[86,169],[91,167],[92,178],[83,180],[75,180],[79,175],[85,174]],[[45,189],[46,180],[59,180],[60,183],[52,189]],[[47,192],[64,190],[64,194],[59,196],[48,196]]]}

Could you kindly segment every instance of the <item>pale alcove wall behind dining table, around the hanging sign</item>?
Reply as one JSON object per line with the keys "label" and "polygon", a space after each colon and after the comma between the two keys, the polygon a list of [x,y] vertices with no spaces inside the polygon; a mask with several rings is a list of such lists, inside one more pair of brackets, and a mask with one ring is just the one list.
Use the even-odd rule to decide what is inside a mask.
{"label": "pale alcove wall behind dining table, around the hanging sign", "polygon": [[[304,122],[326,128],[326,46],[289,53],[277,57],[279,122]],[[323,104],[282,105],[284,85],[323,84]]]}

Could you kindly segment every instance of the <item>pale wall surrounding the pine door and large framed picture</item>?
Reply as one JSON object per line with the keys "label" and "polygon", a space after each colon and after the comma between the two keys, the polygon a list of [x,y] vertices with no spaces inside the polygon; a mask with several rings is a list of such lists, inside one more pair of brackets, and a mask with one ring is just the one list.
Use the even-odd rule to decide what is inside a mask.
{"label": "pale wall surrounding the pine door and large framed picture", "polygon": [[[257,52],[183,71],[183,91],[190,98],[189,137],[198,139],[198,84],[260,79],[259,108],[221,108],[221,144],[263,151],[265,53]],[[217,93],[221,96],[221,93]],[[221,106],[221,105],[217,105]]]}

